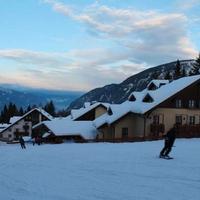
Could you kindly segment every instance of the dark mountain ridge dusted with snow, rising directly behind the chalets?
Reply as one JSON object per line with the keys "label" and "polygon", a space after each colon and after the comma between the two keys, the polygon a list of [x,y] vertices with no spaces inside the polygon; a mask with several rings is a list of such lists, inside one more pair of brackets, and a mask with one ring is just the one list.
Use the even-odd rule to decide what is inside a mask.
{"label": "dark mountain ridge dusted with snow, rising directly behind the chalets", "polygon": [[[182,69],[186,70],[186,75],[194,60],[180,61]],[[122,103],[133,91],[143,90],[147,84],[154,79],[155,73],[159,79],[164,79],[167,72],[174,73],[176,61],[162,64],[157,67],[146,69],[138,74],[135,74],[120,84],[110,84],[102,88],[96,88],[82,95],[80,98],[73,101],[68,109],[80,108],[84,102],[100,101],[108,103]]]}

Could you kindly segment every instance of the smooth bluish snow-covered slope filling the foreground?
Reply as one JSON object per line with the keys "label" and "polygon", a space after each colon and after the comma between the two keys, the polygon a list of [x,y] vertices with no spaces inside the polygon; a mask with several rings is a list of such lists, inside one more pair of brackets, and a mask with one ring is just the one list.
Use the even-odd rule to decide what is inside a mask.
{"label": "smooth bluish snow-covered slope filling the foreground", "polygon": [[19,145],[0,143],[2,200],[199,200],[200,139]]}

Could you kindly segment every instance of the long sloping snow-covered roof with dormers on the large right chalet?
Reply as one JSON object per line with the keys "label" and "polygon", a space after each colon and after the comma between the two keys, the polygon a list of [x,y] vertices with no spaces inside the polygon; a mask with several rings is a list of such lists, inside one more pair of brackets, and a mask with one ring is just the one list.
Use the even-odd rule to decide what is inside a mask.
{"label": "long sloping snow-covered roof with dormers on the large right chalet", "polygon": [[[103,114],[102,116],[94,120],[94,124],[98,128],[106,123],[112,124],[113,122],[128,113],[144,114],[198,80],[200,80],[200,75],[189,76],[174,80],[172,82],[168,82],[168,84],[163,85],[157,90],[149,91],[147,89],[144,89],[143,91],[141,91],[141,93],[133,92],[136,97],[136,101],[127,100],[119,105],[110,105],[113,114]],[[143,102],[143,98],[147,94],[152,97],[152,99],[154,100],[153,102]]]}

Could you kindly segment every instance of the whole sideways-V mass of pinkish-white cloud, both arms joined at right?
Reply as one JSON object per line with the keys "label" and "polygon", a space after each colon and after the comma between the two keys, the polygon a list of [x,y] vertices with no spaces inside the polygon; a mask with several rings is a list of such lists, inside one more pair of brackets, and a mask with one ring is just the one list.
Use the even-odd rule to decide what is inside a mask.
{"label": "whole sideways-V mass of pinkish-white cloud, both arms joined at right", "polygon": [[68,52],[1,49],[0,58],[18,63],[18,73],[11,72],[9,81],[15,78],[29,86],[90,90],[119,83],[151,66],[196,57],[184,14],[118,9],[98,3],[78,10],[55,0],[43,2],[83,24],[92,37],[112,41],[112,46]]}

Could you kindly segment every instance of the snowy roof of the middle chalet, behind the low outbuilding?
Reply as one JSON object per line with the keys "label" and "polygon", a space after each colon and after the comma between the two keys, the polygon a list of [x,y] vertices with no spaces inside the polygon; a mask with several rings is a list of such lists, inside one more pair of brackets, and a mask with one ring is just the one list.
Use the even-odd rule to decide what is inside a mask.
{"label": "snowy roof of the middle chalet, behind the low outbuilding", "polygon": [[106,108],[109,107],[109,103],[101,103],[101,102],[96,102],[94,104],[89,104],[88,102],[85,103],[85,106],[80,108],[80,109],[72,109],[71,110],[71,117],[73,120],[76,120],[77,118],[81,117],[82,115],[86,114],[87,112],[93,110],[94,108],[98,106],[104,106]]}

